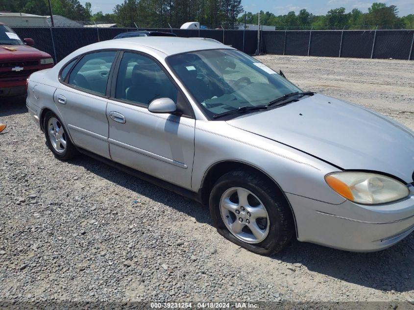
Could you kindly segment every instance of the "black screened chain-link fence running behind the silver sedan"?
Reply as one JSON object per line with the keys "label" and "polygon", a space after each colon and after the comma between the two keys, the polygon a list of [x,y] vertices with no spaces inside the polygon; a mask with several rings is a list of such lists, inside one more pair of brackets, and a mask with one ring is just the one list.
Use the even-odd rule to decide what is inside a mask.
{"label": "black screened chain-link fence running behind the silver sedan", "polygon": [[[136,27],[13,27],[22,38],[32,38],[35,47],[48,52],[55,61],[88,44],[111,40]],[[257,30],[145,28],[172,32],[179,37],[212,38],[223,44],[257,54]],[[394,58],[414,60],[414,30],[262,30],[260,53],[276,55]]]}

